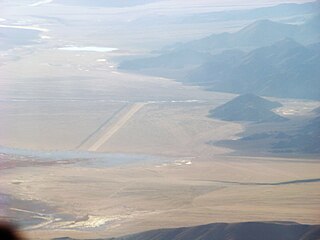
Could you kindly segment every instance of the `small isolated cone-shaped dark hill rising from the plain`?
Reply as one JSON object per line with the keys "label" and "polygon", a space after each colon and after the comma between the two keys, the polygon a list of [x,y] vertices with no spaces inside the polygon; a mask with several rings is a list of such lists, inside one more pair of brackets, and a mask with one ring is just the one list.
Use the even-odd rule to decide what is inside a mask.
{"label": "small isolated cone-shaped dark hill rising from the plain", "polygon": [[271,111],[281,107],[278,102],[271,102],[253,94],[245,94],[213,109],[209,117],[226,121],[278,122],[285,118]]}

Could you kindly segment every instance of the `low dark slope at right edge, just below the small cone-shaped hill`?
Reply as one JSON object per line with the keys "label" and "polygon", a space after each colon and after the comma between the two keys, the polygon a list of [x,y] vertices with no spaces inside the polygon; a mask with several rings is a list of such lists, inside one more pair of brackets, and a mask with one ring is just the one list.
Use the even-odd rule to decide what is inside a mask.
{"label": "low dark slope at right edge, just below the small cone-shaped hill", "polygon": [[[291,118],[289,124],[250,125],[237,140],[210,142],[213,145],[232,148],[240,152],[276,154],[320,154],[320,116],[319,108],[313,110],[316,117],[309,120]],[[281,124],[281,123],[280,123]]]}

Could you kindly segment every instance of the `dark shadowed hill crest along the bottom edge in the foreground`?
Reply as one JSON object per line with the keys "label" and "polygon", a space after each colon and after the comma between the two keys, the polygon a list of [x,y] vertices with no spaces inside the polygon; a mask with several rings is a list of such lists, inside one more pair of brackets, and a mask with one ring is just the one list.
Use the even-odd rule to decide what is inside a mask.
{"label": "dark shadowed hill crest along the bottom edge in the foreground", "polygon": [[[318,240],[319,235],[319,225],[294,222],[244,222],[159,229],[105,240]],[[71,238],[55,240],[71,240]]]}

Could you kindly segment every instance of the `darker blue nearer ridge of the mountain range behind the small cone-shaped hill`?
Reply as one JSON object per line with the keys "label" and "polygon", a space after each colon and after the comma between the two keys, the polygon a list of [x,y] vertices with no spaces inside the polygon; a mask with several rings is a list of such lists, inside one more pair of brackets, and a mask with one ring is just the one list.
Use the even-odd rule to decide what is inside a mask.
{"label": "darker blue nearer ridge of the mountain range behind the small cone-shaped hill", "polygon": [[184,81],[215,91],[320,99],[320,54],[292,39],[253,50],[235,61],[223,55],[214,56]]}

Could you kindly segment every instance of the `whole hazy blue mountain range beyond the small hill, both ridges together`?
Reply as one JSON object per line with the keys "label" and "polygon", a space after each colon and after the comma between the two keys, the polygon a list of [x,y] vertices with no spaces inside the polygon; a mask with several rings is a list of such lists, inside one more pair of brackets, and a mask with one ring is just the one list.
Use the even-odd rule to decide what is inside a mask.
{"label": "whole hazy blue mountain range beyond the small hill, both ridges together", "polygon": [[320,99],[319,16],[302,25],[259,20],[159,56],[123,61],[119,68],[214,91]]}

